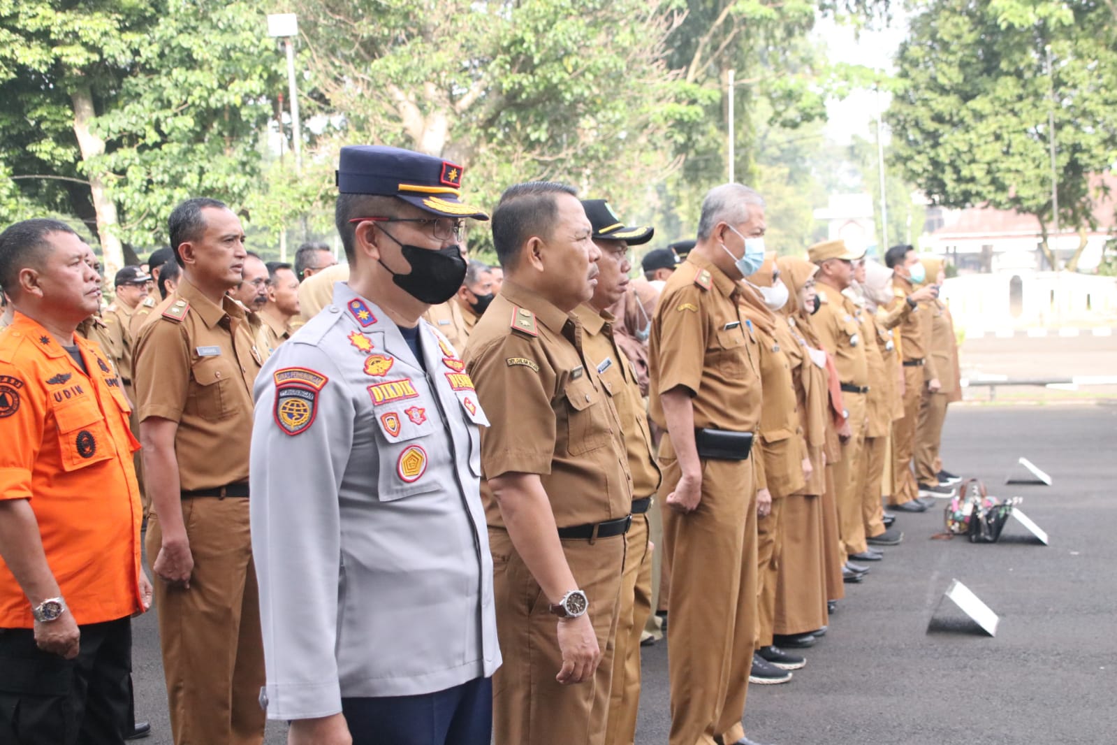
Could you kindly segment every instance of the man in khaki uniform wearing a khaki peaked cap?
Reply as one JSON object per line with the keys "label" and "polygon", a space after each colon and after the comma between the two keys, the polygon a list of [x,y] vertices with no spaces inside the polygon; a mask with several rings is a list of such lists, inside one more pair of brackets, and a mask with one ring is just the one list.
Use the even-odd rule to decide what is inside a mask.
{"label": "man in khaki uniform wearing a khaki peaked cap", "polygon": [[[853,261],[865,256],[865,251],[851,251],[846,248],[846,241],[829,240],[811,246],[809,254],[811,261],[819,267],[814,278],[819,296],[823,298],[822,306],[812,318],[812,325],[822,342],[822,348],[833,357],[846,407],[846,421],[838,431],[841,455],[834,464],[842,558],[847,562],[851,557],[858,561],[879,561],[884,554],[870,550],[866,544],[862,498],[856,491],[865,446],[869,364],[861,326],[853,315],[857,308],[842,295],[842,290],[853,281]],[[848,575],[849,572],[843,574]]]}

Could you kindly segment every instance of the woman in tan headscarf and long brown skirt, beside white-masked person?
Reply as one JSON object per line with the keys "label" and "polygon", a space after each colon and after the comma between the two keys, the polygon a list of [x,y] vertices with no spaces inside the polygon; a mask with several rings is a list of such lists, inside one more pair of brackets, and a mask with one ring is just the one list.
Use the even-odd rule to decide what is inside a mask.
{"label": "woman in tan headscarf and long brown skirt, beside white-masked person", "polygon": [[[780,322],[794,342],[785,347],[785,353],[795,385],[795,409],[811,461],[811,474],[803,488],[787,495],[783,506],[783,556],[776,577],[773,631],[780,637],[792,637],[827,625],[827,600],[843,598],[844,586],[838,563],[838,513],[831,502],[829,518],[832,525],[828,531],[822,496],[827,491],[828,470],[823,450],[827,431],[833,429],[828,416],[825,360],[811,327],[810,312],[804,307],[813,296],[818,267],[790,256],[780,257],[776,266],[790,290],[787,304],[780,312]],[[830,496],[832,499],[833,495]]]}

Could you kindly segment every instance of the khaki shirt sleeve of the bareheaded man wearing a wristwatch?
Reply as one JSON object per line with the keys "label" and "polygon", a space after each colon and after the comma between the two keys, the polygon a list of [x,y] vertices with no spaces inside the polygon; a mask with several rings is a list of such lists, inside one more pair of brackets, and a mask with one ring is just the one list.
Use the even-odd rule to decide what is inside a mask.
{"label": "khaki shirt sleeve of the bareheaded man wearing a wristwatch", "polygon": [[503,474],[551,472],[555,373],[540,343],[512,333],[479,348],[468,347],[466,369],[477,398],[495,427],[481,431],[485,478]]}

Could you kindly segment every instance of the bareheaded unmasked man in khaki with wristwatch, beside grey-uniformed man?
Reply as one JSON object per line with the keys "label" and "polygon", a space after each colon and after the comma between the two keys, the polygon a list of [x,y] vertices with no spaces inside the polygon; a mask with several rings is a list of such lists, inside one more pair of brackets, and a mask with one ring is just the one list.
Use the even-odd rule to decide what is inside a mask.
{"label": "bareheaded unmasked man in khaki with wristwatch, beside grey-uniformed man", "polygon": [[466,347],[499,422],[480,448],[504,656],[497,745],[605,745],[632,487],[613,393],[570,315],[593,295],[592,230],[570,187],[508,188],[493,213],[507,278]]}

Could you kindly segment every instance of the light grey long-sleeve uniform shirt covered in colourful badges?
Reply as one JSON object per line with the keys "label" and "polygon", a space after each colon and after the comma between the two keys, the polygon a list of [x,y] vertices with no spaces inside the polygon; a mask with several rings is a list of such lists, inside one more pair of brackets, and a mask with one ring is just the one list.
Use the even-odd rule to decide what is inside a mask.
{"label": "light grey long-sleeve uniform shirt covered in colourful badges", "polygon": [[427,371],[347,285],[257,378],[252,555],[273,719],[433,693],[500,663],[478,494],[487,426],[420,322]]}

